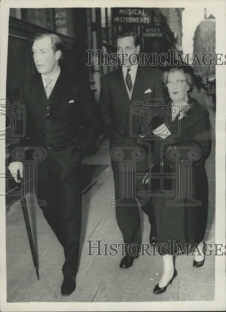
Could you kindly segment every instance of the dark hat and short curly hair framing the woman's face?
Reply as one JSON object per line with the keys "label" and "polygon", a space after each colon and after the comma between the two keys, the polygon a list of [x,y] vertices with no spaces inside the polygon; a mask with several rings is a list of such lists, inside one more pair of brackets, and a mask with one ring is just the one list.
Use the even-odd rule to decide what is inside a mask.
{"label": "dark hat and short curly hair framing the woman's face", "polygon": [[187,80],[187,84],[189,85],[189,90],[188,92],[191,92],[193,90],[194,84],[195,84],[195,74],[190,65],[179,65],[179,66],[167,66],[162,71],[162,84],[165,90],[167,90],[167,78],[169,73],[173,73],[175,71],[181,71]]}

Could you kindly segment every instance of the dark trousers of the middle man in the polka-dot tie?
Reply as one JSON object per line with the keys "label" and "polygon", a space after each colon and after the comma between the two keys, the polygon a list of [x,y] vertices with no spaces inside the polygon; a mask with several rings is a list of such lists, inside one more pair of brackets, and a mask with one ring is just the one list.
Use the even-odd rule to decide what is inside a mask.
{"label": "dark trousers of the middle man in the polka-dot tie", "polygon": [[[120,199],[120,172],[114,172],[115,183],[115,200]],[[138,191],[145,191],[145,187],[142,185],[142,178],[135,179],[135,194]],[[153,196],[137,196],[137,199],[144,201],[145,205],[141,206],[141,209],[148,215],[149,222],[152,230],[156,230],[155,213],[154,213],[154,200]],[[137,244],[141,243],[140,233],[140,214],[138,204],[135,203],[133,198],[122,198],[120,203],[122,205],[115,205],[116,220],[120,231],[122,232],[125,244]],[[135,203],[135,205],[131,205]],[[133,253],[136,252],[136,247],[132,248]]]}

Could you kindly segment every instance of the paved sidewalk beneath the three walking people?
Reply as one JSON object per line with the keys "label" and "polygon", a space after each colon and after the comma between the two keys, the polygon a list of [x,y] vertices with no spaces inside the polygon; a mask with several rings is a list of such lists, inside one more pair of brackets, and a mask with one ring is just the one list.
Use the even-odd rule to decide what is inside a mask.
{"label": "paved sidewalk beneath the three walking people", "polygon": [[[215,113],[210,98],[193,91],[202,105],[210,111],[212,151],[206,162],[209,180],[209,216],[205,235],[206,243],[215,242]],[[93,256],[88,254],[88,242],[97,246],[123,243],[115,219],[113,173],[110,165],[109,143],[105,140],[94,156],[86,156],[84,163],[92,167],[91,180],[97,182],[86,194],[82,203],[82,233],[80,265],[76,278],[76,290],[62,296],[61,271],[64,252],[54,233],[37,206],[28,206],[35,248],[39,259],[40,280],[33,267],[21,207],[11,206],[6,216],[7,246],[7,301],[8,302],[134,302],[134,301],[212,301],[215,288],[215,258],[205,258],[204,266],[194,268],[192,256],[177,256],[177,278],[167,291],[155,295],[153,288],[162,275],[161,256],[140,256],[129,269],[120,269],[121,256]],[[89,167],[88,167],[89,168]],[[94,168],[94,169],[93,169]],[[98,177],[97,177],[98,175]],[[150,225],[140,210],[143,243],[149,244]],[[153,247],[149,252],[153,253]]]}

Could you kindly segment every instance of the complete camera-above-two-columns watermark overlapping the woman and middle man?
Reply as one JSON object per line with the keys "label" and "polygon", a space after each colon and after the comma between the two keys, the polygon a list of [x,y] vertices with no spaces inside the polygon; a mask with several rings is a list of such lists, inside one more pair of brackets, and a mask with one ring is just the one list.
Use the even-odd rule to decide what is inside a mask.
{"label": "complete camera-above-two-columns watermark overlapping the woman and middle man", "polygon": [[[134,202],[130,205],[136,205],[139,196],[170,196],[173,198],[167,202],[168,205],[201,205],[201,201],[192,198],[192,163],[201,157],[201,150],[193,146],[175,146],[177,137],[183,131],[179,112],[179,106],[174,105],[174,102],[165,105],[163,99],[148,99],[145,103],[134,101],[134,105],[130,107],[130,137],[134,137],[136,143],[134,147],[120,146],[111,150],[112,160],[119,161],[120,172],[120,198],[116,198],[111,204],[126,205],[123,199],[130,198]],[[152,163],[154,141],[159,157]],[[128,149],[131,153],[128,153]],[[134,155],[139,149],[142,150],[142,157],[135,158]],[[149,168],[149,172],[136,171],[136,162],[141,159],[145,162],[148,160],[145,169]],[[155,164],[157,166],[153,169]],[[142,178],[145,191],[135,192],[136,178]],[[148,180],[149,183],[146,183]],[[161,192],[153,194],[155,189]],[[140,204],[145,205],[145,202],[140,201]]]}

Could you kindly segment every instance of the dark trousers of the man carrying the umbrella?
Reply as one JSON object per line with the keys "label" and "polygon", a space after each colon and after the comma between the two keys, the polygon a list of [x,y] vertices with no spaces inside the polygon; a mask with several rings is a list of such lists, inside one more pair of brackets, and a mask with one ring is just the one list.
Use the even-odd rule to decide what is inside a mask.
{"label": "dark trousers of the man carrying the umbrella", "polygon": [[64,275],[76,275],[78,268],[79,240],[81,233],[82,193],[78,171],[68,172],[50,158],[46,180],[37,183],[38,199],[45,200],[40,206],[45,219],[64,247]]}

